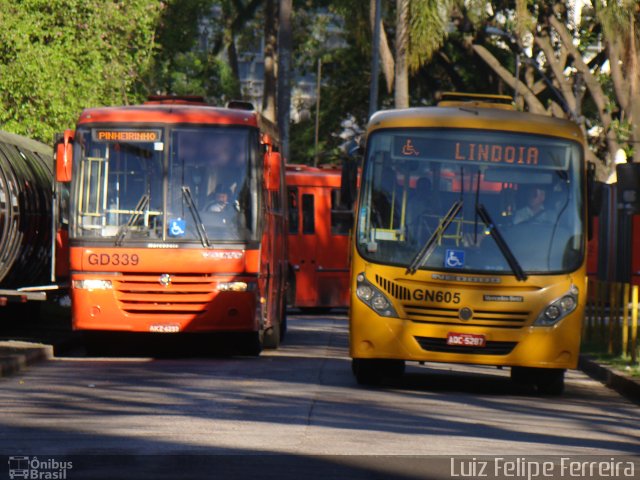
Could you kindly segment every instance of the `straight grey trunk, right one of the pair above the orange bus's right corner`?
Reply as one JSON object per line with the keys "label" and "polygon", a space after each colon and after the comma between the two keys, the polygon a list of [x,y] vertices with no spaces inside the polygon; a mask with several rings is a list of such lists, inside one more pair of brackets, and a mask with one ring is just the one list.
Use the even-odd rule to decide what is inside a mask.
{"label": "straight grey trunk, right one of the pair above the orange bus's right corner", "polygon": [[291,117],[291,11],[292,0],[280,0],[278,26],[278,128],[280,152],[289,159],[289,119]]}

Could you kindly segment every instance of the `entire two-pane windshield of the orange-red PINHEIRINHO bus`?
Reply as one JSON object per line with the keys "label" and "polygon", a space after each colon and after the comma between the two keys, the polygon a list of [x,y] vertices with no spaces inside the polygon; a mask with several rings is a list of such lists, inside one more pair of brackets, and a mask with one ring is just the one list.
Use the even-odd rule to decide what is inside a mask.
{"label": "entire two-pane windshield of the orange-red PINHEIRINHO bus", "polygon": [[257,145],[247,128],[79,128],[71,235],[116,246],[254,240]]}

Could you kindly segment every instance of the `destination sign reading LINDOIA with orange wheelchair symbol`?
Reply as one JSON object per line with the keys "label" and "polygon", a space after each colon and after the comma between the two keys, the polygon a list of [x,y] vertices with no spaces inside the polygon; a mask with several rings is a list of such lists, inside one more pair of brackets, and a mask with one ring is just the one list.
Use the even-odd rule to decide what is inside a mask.
{"label": "destination sign reading LINDOIA with orange wheelchair symbol", "polygon": [[[519,141],[520,140],[520,141]],[[569,144],[523,141],[522,136],[509,139],[428,138],[397,135],[393,139],[396,158],[465,162],[476,164],[514,165],[528,167],[561,168],[567,166]]]}

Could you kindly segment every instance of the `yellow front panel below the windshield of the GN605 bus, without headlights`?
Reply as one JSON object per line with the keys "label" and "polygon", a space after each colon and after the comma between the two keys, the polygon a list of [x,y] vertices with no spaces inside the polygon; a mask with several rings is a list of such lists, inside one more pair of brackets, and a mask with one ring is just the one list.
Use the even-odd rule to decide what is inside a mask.
{"label": "yellow front panel below the windshield of the GN605 bus, without headlights", "polygon": [[[420,272],[407,279],[404,269],[366,267],[358,274],[386,297],[394,316],[376,312],[351,295],[352,358],[472,363],[483,365],[575,368],[578,360],[585,283],[580,275],[531,278],[526,287],[500,283],[452,283]],[[433,277],[436,277],[435,279]],[[496,277],[459,275],[473,282]],[[537,325],[545,308],[570,290],[578,292],[572,312],[549,326]]]}

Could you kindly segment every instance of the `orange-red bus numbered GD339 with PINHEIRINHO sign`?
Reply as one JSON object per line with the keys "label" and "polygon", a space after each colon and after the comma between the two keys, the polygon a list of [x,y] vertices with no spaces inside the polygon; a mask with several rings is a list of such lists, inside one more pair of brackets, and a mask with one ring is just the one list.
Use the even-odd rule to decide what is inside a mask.
{"label": "orange-red bus numbered GD339 with PINHEIRINHO sign", "polygon": [[160,97],[84,110],[65,132],[74,329],[235,332],[250,354],[279,345],[284,166],[275,127],[249,108]]}

